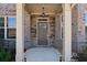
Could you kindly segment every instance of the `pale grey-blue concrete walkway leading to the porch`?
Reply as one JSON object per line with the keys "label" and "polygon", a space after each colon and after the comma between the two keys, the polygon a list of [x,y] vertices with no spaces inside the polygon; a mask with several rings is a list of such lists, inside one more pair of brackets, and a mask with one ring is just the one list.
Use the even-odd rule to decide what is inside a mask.
{"label": "pale grey-blue concrete walkway leading to the porch", "polygon": [[32,47],[26,50],[26,62],[59,62],[61,53],[54,47]]}

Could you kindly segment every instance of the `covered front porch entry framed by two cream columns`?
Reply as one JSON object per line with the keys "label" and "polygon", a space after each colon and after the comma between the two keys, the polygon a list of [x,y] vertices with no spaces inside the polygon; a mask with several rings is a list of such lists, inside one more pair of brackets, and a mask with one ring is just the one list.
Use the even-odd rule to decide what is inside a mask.
{"label": "covered front porch entry framed by two cream columns", "polygon": [[[72,57],[72,4],[17,4],[17,55],[15,61],[24,61],[24,52],[31,48],[45,46],[54,47],[57,53],[62,55],[62,61],[70,61]],[[36,24],[37,18],[43,21],[44,18],[48,18],[48,31],[42,30],[44,24]],[[51,22],[52,21],[52,22]],[[52,24],[51,24],[52,23]],[[24,24],[24,25],[23,25]],[[43,25],[43,26],[42,26]],[[53,26],[53,28],[52,28]],[[53,29],[51,31],[51,28]],[[45,35],[40,32],[46,31]],[[39,35],[39,34],[41,35]],[[40,37],[39,37],[40,36]],[[42,37],[44,36],[44,37]],[[46,39],[46,40],[45,40]],[[44,40],[45,42],[43,43]],[[20,43],[20,44],[19,44]],[[40,44],[39,44],[40,43]],[[25,48],[25,50],[24,50]],[[54,50],[54,51],[55,51]],[[39,51],[35,48],[35,51]],[[42,50],[43,52],[43,50]],[[35,52],[34,52],[35,53]],[[31,53],[26,53],[28,56]],[[59,56],[58,55],[58,61]],[[26,57],[28,57],[26,56]],[[30,55],[31,56],[31,55]],[[46,55],[50,56],[50,55]],[[43,56],[42,56],[43,57]],[[54,56],[55,57],[55,56]],[[26,58],[29,59],[29,58]]]}

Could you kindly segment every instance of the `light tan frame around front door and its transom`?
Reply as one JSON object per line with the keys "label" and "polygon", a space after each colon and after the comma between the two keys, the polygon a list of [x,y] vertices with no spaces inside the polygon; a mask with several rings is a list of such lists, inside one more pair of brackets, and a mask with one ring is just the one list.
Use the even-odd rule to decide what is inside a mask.
{"label": "light tan frame around front door and its transom", "polygon": [[[39,21],[39,19],[46,19],[47,21]],[[48,25],[48,26],[47,26],[47,45],[39,45],[39,44],[37,44],[37,42],[39,42],[39,41],[37,41],[37,39],[39,39],[39,37],[37,37],[37,36],[39,36],[39,35],[37,35],[37,32],[39,32],[39,30],[37,30],[37,23],[39,23],[39,22],[46,22],[47,25]],[[50,46],[50,19],[48,19],[48,18],[36,18],[36,46]]]}

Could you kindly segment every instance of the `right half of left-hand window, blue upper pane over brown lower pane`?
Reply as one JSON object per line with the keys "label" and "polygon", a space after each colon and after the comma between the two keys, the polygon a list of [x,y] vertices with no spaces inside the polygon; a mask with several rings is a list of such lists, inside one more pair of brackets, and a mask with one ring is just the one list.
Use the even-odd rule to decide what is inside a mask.
{"label": "right half of left-hand window, blue upper pane over brown lower pane", "polygon": [[15,39],[15,18],[7,18],[7,37]]}

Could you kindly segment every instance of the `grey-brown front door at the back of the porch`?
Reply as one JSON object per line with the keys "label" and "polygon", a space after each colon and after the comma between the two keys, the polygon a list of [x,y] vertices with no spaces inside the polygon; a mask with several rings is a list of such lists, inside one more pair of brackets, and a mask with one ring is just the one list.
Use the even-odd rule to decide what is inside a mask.
{"label": "grey-brown front door at the back of the porch", "polygon": [[37,45],[48,45],[48,23],[37,22]]}

